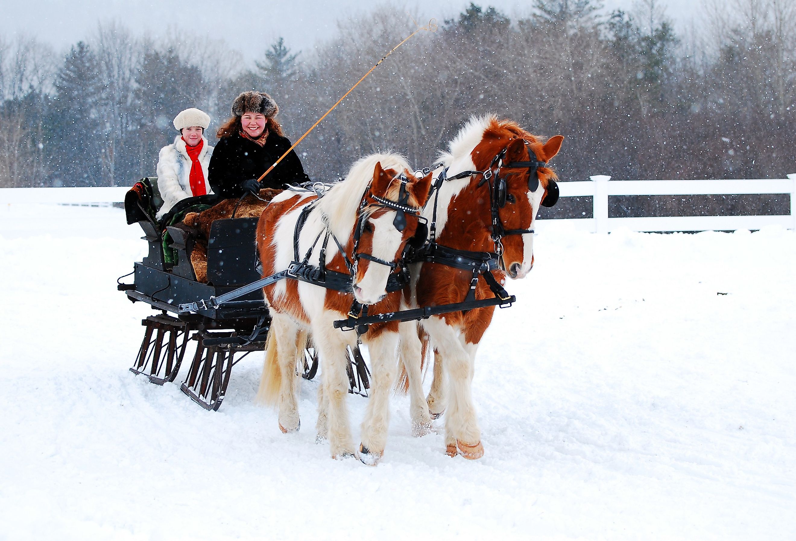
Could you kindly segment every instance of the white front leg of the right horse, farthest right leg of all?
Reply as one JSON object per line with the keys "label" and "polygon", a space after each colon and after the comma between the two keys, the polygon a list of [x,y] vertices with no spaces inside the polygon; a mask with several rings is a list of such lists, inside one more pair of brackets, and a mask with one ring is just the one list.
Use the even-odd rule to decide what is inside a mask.
{"label": "white front leg of the right horse, farthest right leg of all", "polygon": [[433,337],[448,376],[447,394],[450,398],[445,416],[446,452],[455,456],[458,447],[462,457],[480,458],[484,455],[484,448],[471,392],[474,374],[472,348],[465,348],[458,331],[442,318],[431,317],[423,326]]}

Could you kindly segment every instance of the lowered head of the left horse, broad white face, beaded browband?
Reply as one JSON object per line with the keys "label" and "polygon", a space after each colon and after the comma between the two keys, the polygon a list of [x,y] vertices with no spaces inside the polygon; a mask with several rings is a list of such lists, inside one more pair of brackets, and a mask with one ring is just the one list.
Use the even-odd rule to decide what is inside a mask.
{"label": "lowered head of the left horse, broad white face, beaded browband", "polygon": [[383,299],[389,275],[399,267],[407,244],[425,240],[425,224],[420,224],[419,213],[430,187],[431,173],[416,177],[407,167],[376,163],[353,232],[353,294],[357,302],[374,304]]}

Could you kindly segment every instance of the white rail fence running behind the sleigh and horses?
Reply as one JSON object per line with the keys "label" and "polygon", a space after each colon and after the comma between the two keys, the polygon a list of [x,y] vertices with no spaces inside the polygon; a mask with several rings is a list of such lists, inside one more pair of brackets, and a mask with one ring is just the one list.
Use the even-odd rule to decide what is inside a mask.
{"label": "white rail fence running behind the sleigh and horses", "polygon": [[[787,178],[721,181],[611,181],[595,175],[591,181],[560,182],[561,197],[592,197],[593,218],[540,220],[573,224],[591,232],[607,233],[618,228],[631,231],[732,231],[780,225],[796,229],[796,173]],[[128,188],[6,188],[0,189],[0,204],[121,203]],[[790,213],[782,216],[656,216],[609,218],[609,196],[689,196],[737,194],[789,194]],[[544,227],[544,226],[543,226]]]}

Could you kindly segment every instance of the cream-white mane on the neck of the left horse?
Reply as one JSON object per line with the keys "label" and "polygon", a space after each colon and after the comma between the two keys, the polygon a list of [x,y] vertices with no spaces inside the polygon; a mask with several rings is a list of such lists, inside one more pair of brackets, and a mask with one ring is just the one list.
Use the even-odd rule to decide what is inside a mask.
{"label": "cream-white mane on the neck of the left horse", "polygon": [[[365,190],[373,181],[373,170],[376,169],[377,162],[381,162],[382,169],[411,170],[406,158],[400,154],[370,154],[354,162],[345,179],[335,184],[318,200],[318,208],[327,216],[329,227],[338,239],[347,239],[351,235],[357,220],[357,208]],[[387,197],[396,199],[399,188],[398,182],[393,183]]]}

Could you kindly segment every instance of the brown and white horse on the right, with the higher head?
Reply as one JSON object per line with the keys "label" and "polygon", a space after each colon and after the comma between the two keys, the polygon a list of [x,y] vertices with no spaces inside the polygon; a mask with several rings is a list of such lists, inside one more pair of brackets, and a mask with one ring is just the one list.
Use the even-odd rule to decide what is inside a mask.
{"label": "brown and white horse on the right, with the higher head", "polygon": [[[500,177],[505,179],[505,204],[492,204],[495,194],[483,174],[473,174],[458,180],[443,181],[439,187],[436,228],[437,241],[444,247],[462,251],[501,253],[500,268],[494,271],[497,282],[505,276],[524,278],[533,267],[533,226],[540,204],[554,203],[557,198],[555,173],[545,165],[560,150],[563,137],[556,135],[546,142],[521,129],[509,120],[494,116],[470,119],[440,158],[447,167],[447,177],[464,171],[496,169],[495,157],[505,151]],[[539,164],[538,162],[545,162]],[[506,165],[528,165],[533,168]],[[435,176],[439,176],[439,172]],[[538,176],[538,182],[536,181]],[[555,193],[555,194],[553,194]],[[545,197],[548,197],[545,200]],[[498,228],[512,232],[494,239],[493,208],[497,208]],[[423,212],[431,220],[433,205]],[[464,300],[470,288],[470,271],[462,271],[439,263],[416,263],[410,268],[411,287],[405,303],[416,306],[438,306]],[[484,278],[478,278],[475,297],[490,298],[493,294]],[[447,414],[445,442],[447,453],[461,453],[466,458],[479,458],[484,450],[481,430],[475,415],[471,383],[475,354],[486,328],[489,327],[494,306],[445,313],[419,322],[420,335],[426,335],[431,351],[435,352],[434,381],[427,399],[423,399],[421,341],[415,322],[400,325],[401,360],[408,375],[411,395],[411,415],[414,433],[427,433],[431,415],[443,412],[443,370],[447,372]],[[428,344],[424,344],[428,345]],[[425,349],[425,348],[424,348]]]}

